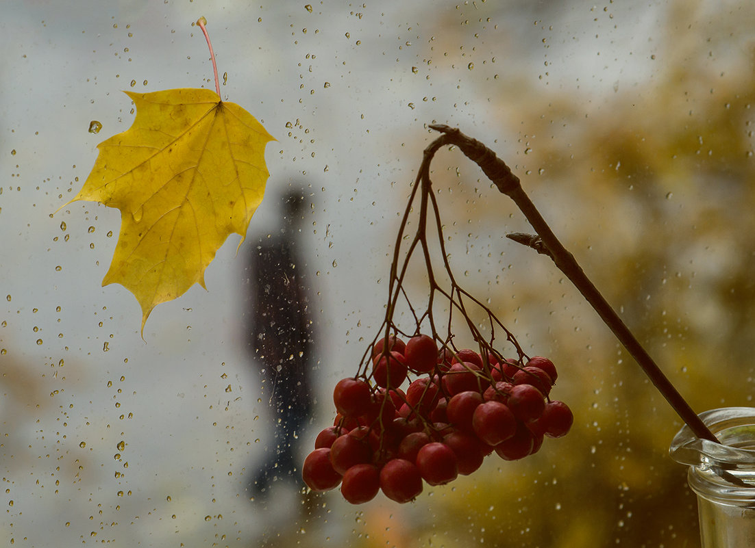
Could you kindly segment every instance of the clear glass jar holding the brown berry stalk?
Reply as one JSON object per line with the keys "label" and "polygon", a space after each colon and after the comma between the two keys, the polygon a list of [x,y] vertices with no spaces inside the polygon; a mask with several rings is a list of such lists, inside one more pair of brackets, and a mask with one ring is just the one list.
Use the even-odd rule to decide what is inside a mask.
{"label": "clear glass jar holding the brown berry stalk", "polygon": [[689,465],[701,546],[755,546],[755,409],[713,409],[700,418],[721,443],[699,439],[685,425],[671,442],[670,455]]}

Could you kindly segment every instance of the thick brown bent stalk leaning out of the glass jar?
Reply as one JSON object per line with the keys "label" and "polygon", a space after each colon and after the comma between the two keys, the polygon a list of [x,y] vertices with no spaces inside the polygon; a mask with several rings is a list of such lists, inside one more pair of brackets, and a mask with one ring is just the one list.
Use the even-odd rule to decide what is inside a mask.
{"label": "thick brown bent stalk leaning out of the glass jar", "polygon": [[667,376],[664,375],[661,368],[658,367],[643,345],[639,343],[624,321],[621,320],[621,317],[609,305],[606,298],[603,297],[602,293],[599,292],[590,278],[587,277],[587,274],[584,274],[584,271],[574,256],[572,256],[572,253],[569,253],[556,235],[553,234],[550,226],[547,225],[547,222],[545,222],[537,207],[535,207],[535,204],[532,203],[529,196],[525,193],[519,182],[519,178],[511,173],[510,168],[504,161],[498,158],[490,148],[476,139],[464,135],[458,128],[442,124],[431,124],[430,128],[439,131],[442,135],[425,149],[423,168],[421,170],[429,170],[433,155],[443,145],[458,146],[467,158],[478,164],[485,173],[485,176],[498,187],[498,190],[514,201],[538,234],[537,237],[529,237],[529,240],[528,237],[522,236],[522,234],[513,235],[512,239],[533,247],[535,250],[538,250],[538,253],[550,256],[556,267],[572,281],[578,291],[590,303],[603,320],[603,323],[606,323],[606,326],[611,329],[616,338],[621,341],[621,344],[624,344],[627,351],[646,375],[648,375],[655,387],[663,394],[667,402],[670,403],[670,406],[673,407],[680,418],[692,429],[695,436],[718,442],[716,436],[710,432],[703,421],[692,410],[692,407],[689,406],[689,403],[676,390],[676,387],[673,386]]}

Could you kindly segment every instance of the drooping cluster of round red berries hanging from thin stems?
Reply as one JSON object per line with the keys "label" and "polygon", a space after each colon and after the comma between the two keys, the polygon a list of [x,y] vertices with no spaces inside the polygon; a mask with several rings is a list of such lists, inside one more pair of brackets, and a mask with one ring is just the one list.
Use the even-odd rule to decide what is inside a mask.
{"label": "drooping cluster of round red berries hanging from thin stems", "polygon": [[[352,504],[380,490],[405,503],[423,480],[467,476],[492,452],[507,461],[532,455],[544,436],[569,431],[571,410],[548,397],[557,377],[550,360],[485,354],[447,344],[439,351],[429,335],[378,341],[371,372],[335,385],[338,414],[304,461],[304,482],[314,491],[340,483]],[[404,391],[410,372],[418,378]]]}

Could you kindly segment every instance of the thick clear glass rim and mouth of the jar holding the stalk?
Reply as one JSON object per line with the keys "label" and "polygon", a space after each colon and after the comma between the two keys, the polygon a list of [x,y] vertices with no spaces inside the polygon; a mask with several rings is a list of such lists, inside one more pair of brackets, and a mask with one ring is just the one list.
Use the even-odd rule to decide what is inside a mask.
{"label": "thick clear glass rim and mouth of the jar holding the stalk", "polygon": [[674,461],[723,470],[755,470],[755,409],[726,407],[702,412],[699,417],[720,443],[698,438],[685,425],[671,442],[669,454]]}

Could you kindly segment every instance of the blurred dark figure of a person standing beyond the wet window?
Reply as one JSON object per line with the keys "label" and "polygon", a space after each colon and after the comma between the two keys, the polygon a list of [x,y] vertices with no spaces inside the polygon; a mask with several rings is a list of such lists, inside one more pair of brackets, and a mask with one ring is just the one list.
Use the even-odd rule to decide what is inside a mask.
{"label": "blurred dark figure of a person standing beyond the wet window", "polygon": [[249,484],[265,497],[276,480],[304,487],[297,438],[313,411],[312,369],[316,363],[307,259],[301,226],[307,206],[304,189],[282,196],[282,224],[251,248],[248,275],[249,350],[261,373],[262,400],[270,404],[273,442]]}

